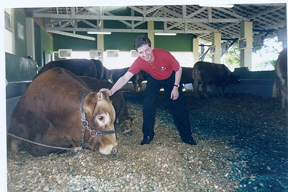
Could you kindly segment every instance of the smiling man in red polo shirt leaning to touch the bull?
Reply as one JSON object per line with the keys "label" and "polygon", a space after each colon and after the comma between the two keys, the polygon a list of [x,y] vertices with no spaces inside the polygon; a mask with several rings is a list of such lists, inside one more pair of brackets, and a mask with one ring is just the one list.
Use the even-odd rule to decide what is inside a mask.
{"label": "smiling man in red polo shirt leaning to touch the bull", "polygon": [[180,85],[182,68],[179,62],[168,51],[152,49],[151,41],[143,35],[135,39],[134,48],[139,57],[125,75],[119,78],[110,90],[103,88],[100,91],[106,91],[111,96],[122,88],[134,74],[141,69],[146,71],[147,84],[143,104],[143,140],[141,145],[149,144],[154,138],[156,100],[162,87],[182,141],[196,145],[191,135],[189,115],[182,93],[182,85]]}

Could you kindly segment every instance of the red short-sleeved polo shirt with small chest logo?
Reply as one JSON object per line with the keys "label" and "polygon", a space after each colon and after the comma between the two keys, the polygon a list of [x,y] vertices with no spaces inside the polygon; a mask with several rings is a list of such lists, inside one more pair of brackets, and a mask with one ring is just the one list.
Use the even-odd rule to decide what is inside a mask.
{"label": "red short-sleeved polo shirt with small chest logo", "polygon": [[129,72],[136,74],[141,69],[149,73],[158,80],[167,79],[173,70],[179,70],[179,62],[171,55],[170,52],[163,49],[153,49],[154,61],[149,63],[138,57],[128,69]]}

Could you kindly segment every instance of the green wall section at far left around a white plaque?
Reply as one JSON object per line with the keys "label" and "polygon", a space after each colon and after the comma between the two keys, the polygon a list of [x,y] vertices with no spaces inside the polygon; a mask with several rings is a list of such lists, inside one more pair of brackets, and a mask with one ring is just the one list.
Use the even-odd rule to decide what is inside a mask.
{"label": "green wall section at far left around a white plaque", "polygon": [[[26,21],[25,14],[20,12],[18,9],[14,10],[14,35],[15,35],[15,55],[26,57]],[[18,23],[23,26],[24,40],[18,37]]]}

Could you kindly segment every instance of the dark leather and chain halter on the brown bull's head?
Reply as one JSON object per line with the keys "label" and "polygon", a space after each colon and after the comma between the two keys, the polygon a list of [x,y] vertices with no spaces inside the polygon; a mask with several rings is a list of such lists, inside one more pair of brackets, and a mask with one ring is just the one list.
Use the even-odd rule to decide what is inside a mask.
{"label": "dark leather and chain halter on the brown bull's head", "polygon": [[99,135],[109,135],[109,134],[116,134],[116,131],[96,131],[96,130],[91,130],[90,127],[88,127],[88,122],[86,120],[86,116],[85,116],[85,111],[83,108],[83,102],[85,97],[88,95],[88,93],[92,92],[91,90],[87,90],[85,91],[85,93],[82,96],[82,100],[81,100],[81,121],[82,121],[82,125],[83,123],[86,123],[86,125],[83,125],[83,130],[82,130],[82,149],[85,150],[85,145],[84,145],[84,132],[85,132],[85,128],[88,129],[88,131],[90,131],[90,140],[88,141],[87,144],[90,144],[91,140],[93,137],[95,136],[99,136]]}

